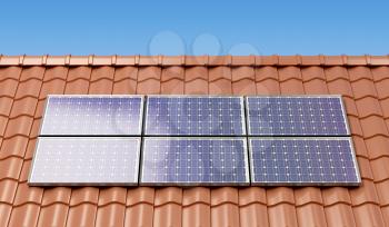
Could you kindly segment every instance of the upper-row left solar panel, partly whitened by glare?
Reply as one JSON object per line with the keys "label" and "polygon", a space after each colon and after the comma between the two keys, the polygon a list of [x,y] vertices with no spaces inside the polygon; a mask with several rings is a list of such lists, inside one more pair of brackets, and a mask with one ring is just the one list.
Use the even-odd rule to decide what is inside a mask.
{"label": "upper-row left solar panel, partly whitened by glare", "polygon": [[41,135],[140,135],[141,96],[49,96]]}

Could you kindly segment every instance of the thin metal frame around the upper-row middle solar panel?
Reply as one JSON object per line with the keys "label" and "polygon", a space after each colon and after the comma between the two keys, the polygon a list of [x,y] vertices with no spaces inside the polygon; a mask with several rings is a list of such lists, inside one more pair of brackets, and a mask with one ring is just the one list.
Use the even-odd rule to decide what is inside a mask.
{"label": "thin metal frame around the upper-row middle solar panel", "polygon": [[[149,112],[149,99],[150,98],[239,98],[240,99],[240,115],[241,115],[241,126],[242,126],[242,134],[241,135],[163,135],[163,134],[156,134],[156,135],[149,135],[147,125],[148,125],[148,112]],[[193,136],[201,136],[201,137],[242,137],[248,135],[247,126],[246,126],[246,103],[245,103],[245,97],[242,96],[222,96],[222,95],[148,95],[144,99],[144,116],[143,116],[143,136],[147,137],[193,137]]]}

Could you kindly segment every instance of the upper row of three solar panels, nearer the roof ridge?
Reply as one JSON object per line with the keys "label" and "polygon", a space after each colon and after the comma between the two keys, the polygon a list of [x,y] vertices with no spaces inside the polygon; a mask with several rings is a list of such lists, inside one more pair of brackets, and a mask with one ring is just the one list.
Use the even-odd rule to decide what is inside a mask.
{"label": "upper row of three solar panels, nearer the roof ridge", "polygon": [[40,135],[347,136],[346,119],[340,96],[49,96]]}

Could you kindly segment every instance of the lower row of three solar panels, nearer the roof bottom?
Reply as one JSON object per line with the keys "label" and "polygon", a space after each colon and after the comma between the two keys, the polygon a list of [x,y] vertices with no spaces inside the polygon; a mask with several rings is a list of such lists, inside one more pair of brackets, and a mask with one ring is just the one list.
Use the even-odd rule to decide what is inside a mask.
{"label": "lower row of three solar panels, nearer the roof bottom", "polygon": [[31,186],[360,184],[348,137],[40,137]]}

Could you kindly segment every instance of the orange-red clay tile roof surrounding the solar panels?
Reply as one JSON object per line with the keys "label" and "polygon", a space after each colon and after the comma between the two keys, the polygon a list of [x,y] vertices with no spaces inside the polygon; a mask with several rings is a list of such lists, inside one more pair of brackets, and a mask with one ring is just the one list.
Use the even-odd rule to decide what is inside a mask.
{"label": "orange-red clay tile roof surrounding the solar panels", "polygon": [[[389,225],[389,57],[0,58],[0,226]],[[29,187],[49,93],[341,93],[360,187]]]}

